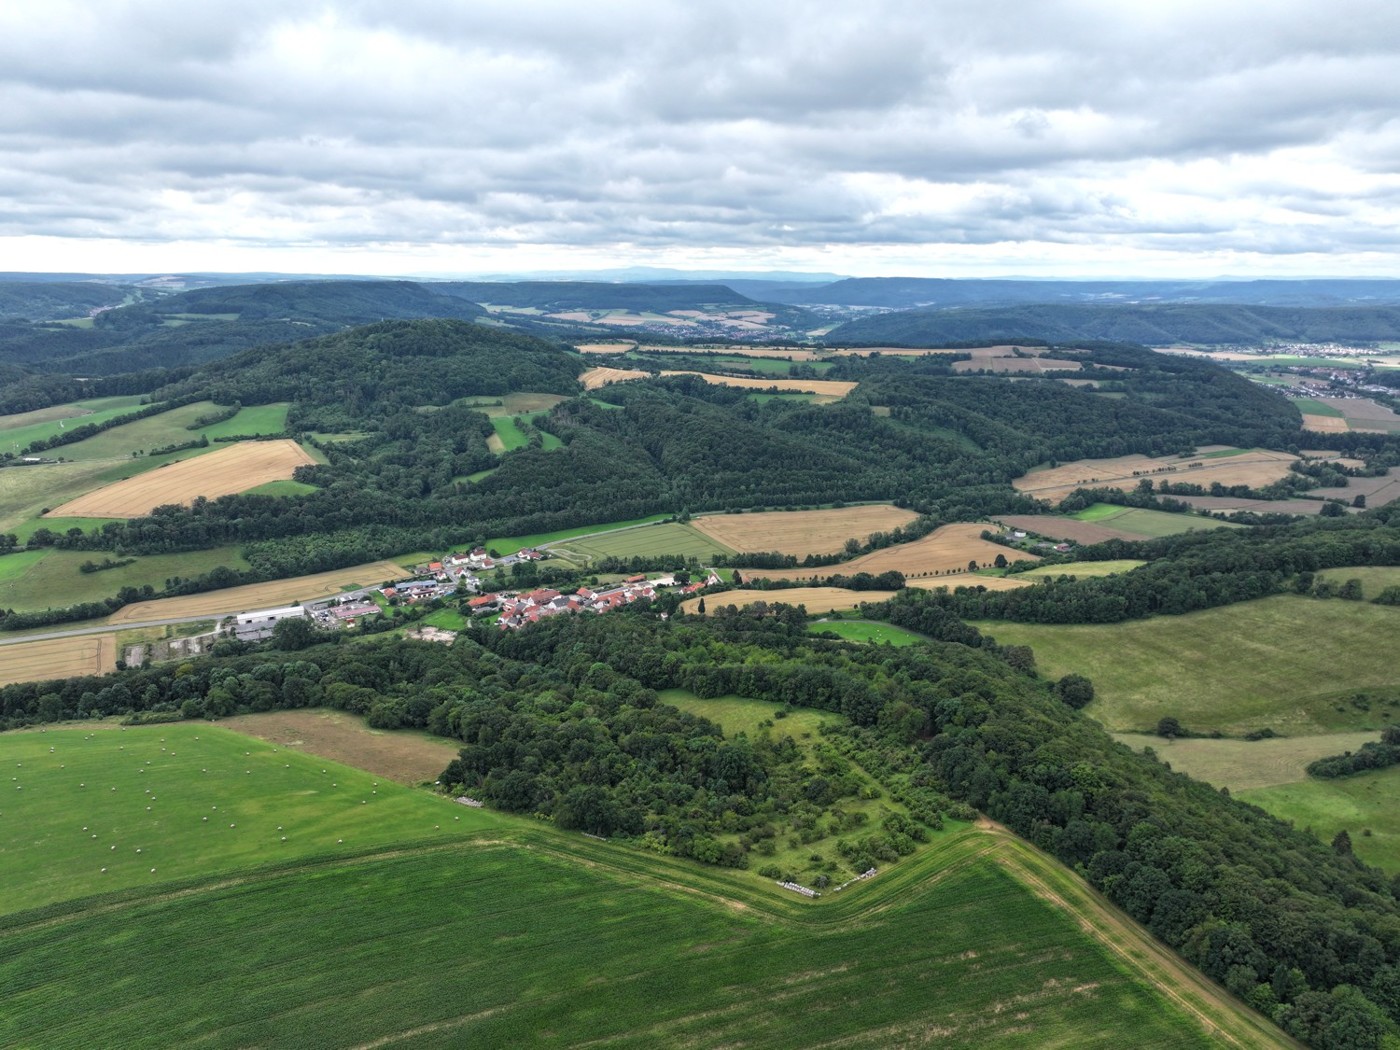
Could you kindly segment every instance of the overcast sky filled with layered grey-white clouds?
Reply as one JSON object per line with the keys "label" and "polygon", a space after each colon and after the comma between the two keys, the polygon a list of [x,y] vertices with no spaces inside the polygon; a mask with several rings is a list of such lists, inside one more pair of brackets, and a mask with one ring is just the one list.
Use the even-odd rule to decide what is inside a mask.
{"label": "overcast sky filled with layered grey-white clouds", "polygon": [[1400,277],[1400,4],[0,0],[0,270]]}

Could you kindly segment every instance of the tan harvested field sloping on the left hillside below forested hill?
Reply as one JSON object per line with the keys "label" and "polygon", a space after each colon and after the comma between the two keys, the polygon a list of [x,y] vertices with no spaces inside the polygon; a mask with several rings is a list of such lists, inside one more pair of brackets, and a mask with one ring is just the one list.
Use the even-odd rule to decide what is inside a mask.
{"label": "tan harvested field sloping on the left hillside below forested hill", "polygon": [[209,455],[182,459],[55,507],[53,518],[139,518],[168,503],[196,496],[217,498],[288,480],[298,466],[314,466],[295,441],[238,441]]}

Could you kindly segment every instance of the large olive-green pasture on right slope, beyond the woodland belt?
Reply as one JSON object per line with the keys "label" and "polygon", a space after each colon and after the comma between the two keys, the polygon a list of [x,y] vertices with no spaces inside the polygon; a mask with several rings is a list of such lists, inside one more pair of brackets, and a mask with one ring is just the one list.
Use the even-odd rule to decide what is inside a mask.
{"label": "large olive-green pasture on right slope, beyond the woodland belt", "polygon": [[1400,637],[1396,608],[1277,595],[1116,624],[977,626],[1030,645],[1043,675],[1093,679],[1085,710],[1119,732],[1151,731],[1166,715],[1196,732],[1379,732],[1400,717],[1383,641]]}

